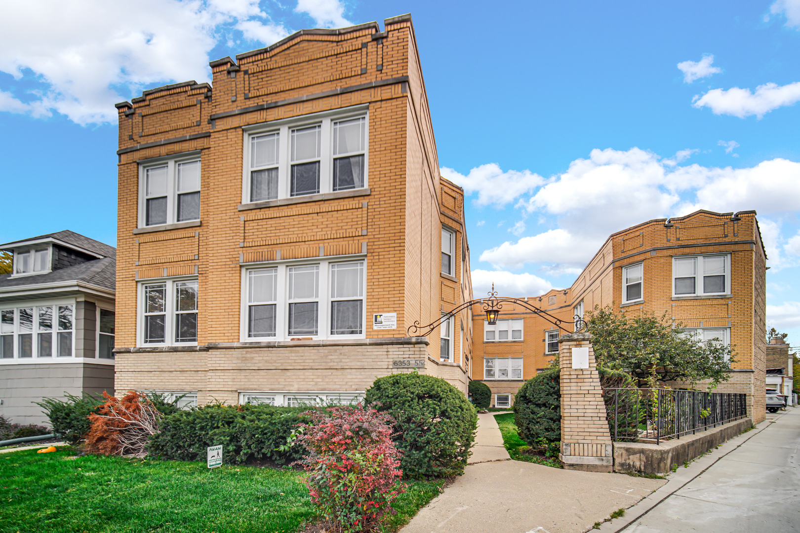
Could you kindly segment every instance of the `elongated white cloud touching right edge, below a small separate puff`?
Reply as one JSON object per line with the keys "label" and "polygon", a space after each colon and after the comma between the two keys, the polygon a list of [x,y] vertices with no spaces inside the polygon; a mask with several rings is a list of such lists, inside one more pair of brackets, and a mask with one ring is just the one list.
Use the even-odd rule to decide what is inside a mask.
{"label": "elongated white cloud touching right edge, below a small separate puff", "polygon": [[778,86],[766,83],[755,88],[755,93],[750,89],[711,89],[702,97],[695,96],[692,106],[697,109],[709,107],[717,115],[733,115],[744,118],[755,115],[759,119],[766,113],[783,105],[793,105],[800,101],[800,82]]}

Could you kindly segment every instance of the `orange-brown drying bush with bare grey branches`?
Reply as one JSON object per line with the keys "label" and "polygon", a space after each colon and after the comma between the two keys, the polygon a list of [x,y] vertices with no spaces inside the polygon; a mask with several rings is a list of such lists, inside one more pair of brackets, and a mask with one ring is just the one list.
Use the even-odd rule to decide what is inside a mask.
{"label": "orange-brown drying bush with bare grey branches", "polygon": [[147,455],[145,446],[158,432],[164,417],[147,396],[128,391],[118,399],[103,392],[106,403],[90,414],[91,426],[86,434],[86,451],[103,455]]}

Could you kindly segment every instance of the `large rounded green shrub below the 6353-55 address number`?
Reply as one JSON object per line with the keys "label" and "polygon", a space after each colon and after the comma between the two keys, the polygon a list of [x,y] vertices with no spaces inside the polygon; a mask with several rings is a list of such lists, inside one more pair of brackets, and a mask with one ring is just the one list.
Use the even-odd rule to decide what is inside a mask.
{"label": "large rounded green shrub below the 6353-55 address number", "polygon": [[365,401],[394,418],[403,475],[445,477],[464,471],[478,413],[463,392],[445,380],[414,372],[378,378]]}

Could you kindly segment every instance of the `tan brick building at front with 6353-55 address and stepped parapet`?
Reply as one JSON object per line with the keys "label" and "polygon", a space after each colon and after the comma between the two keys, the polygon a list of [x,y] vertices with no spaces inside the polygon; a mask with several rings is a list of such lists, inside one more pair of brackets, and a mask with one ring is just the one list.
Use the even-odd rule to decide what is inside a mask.
{"label": "tan brick building at front with 6353-55 address and stepped parapet", "polygon": [[119,110],[116,388],[293,405],[425,372],[466,391],[463,191],[410,15],[302,30]]}

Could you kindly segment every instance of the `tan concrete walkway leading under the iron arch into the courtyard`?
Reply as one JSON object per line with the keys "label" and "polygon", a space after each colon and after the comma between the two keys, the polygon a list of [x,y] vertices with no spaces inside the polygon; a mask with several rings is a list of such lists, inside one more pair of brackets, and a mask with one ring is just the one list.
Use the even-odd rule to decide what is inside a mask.
{"label": "tan concrete walkway leading under the iron arch into the courtyard", "polygon": [[496,414],[478,415],[478,438],[464,475],[402,533],[581,533],[666,483],[510,460]]}

